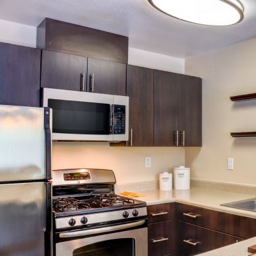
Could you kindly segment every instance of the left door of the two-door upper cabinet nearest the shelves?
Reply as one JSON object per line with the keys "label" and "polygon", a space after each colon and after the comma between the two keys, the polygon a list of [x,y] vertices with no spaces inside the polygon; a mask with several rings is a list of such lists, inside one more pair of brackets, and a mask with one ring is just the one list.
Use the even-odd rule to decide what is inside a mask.
{"label": "left door of the two-door upper cabinet nearest the shelves", "polygon": [[154,146],[175,146],[180,74],[154,70]]}

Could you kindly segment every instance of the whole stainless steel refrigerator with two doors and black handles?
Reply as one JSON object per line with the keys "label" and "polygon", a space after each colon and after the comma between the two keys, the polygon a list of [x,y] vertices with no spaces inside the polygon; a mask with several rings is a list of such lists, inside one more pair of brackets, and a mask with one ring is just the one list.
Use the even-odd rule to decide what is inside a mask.
{"label": "whole stainless steel refrigerator with two doors and black handles", "polygon": [[0,255],[52,255],[51,109],[0,105]]}

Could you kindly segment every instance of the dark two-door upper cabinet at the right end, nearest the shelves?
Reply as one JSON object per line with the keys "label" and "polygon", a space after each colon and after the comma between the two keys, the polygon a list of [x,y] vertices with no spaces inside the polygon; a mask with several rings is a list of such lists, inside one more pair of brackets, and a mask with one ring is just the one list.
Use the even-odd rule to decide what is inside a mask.
{"label": "dark two-door upper cabinet at the right end, nearest the shelves", "polygon": [[154,145],[202,146],[202,79],[154,70]]}

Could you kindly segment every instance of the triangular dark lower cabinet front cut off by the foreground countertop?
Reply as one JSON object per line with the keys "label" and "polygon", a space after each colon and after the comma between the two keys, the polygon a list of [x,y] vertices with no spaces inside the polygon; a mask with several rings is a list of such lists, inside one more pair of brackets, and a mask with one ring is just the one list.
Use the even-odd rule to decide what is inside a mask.
{"label": "triangular dark lower cabinet front cut off by the foreground countertop", "polygon": [[237,236],[231,236],[214,230],[208,230],[207,250],[211,251],[229,244],[234,244],[244,239]]}

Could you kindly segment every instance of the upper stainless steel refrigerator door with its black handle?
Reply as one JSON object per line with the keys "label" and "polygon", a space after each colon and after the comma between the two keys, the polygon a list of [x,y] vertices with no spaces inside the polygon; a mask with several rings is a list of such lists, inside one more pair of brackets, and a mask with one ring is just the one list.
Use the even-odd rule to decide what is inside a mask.
{"label": "upper stainless steel refrigerator door with its black handle", "polygon": [[51,109],[0,105],[0,182],[51,179]]}

